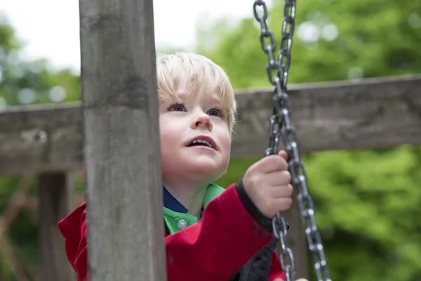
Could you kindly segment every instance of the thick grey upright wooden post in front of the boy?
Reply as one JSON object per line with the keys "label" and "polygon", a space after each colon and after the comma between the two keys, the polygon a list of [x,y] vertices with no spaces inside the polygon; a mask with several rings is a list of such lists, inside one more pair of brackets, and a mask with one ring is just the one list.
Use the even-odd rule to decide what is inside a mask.
{"label": "thick grey upright wooden post in front of the boy", "polygon": [[79,6],[89,280],[166,280],[152,0]]}

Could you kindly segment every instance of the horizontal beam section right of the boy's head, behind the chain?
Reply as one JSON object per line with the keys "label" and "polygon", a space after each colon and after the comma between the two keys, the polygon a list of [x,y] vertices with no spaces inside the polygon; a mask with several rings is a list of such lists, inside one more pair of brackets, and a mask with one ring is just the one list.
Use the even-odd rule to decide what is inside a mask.
{"label": "horizontal beam section right of the boy's head, behind the chain", "polygon": [[[420,87],[420,76],[291,86],[291,120],[301,152],[420,144]],[[238,101],[232,157],[263,155],[272,93],[248,91]]]}

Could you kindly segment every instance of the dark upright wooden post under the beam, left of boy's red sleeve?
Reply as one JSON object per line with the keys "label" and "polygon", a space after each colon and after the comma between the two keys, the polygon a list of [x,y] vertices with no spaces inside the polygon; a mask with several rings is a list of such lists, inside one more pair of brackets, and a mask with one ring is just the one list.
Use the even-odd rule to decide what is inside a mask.
{"label": "dark upright wooden post under the beam, left of boy's red sleeve", "polygon": [[73,208],[74,176],[50,173],[39,176],[39,237],[41,248],[41,280],[73,281],[74,272],[67,261],[65,239],[58,221]]}

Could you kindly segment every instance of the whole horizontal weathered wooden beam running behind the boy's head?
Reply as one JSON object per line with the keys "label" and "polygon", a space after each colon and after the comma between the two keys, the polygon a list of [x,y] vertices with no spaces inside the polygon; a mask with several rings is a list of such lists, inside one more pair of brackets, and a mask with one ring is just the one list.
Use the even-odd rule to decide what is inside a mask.
{"label": "whole horizontal weathered wooden beam running behind the boy's head", "polygon": [[[421,143],[421,76],[290,86],[292,122],[303,153]],[[272,89],[236,93],[232,158],[268,145]],[[0,176],[83,168],[80,103],[0,112]]]}

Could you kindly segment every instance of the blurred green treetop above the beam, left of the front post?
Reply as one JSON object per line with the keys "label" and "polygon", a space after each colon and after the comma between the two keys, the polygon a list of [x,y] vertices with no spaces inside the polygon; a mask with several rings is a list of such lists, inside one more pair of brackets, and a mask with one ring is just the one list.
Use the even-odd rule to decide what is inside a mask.
{"label": "blurred green treetop above the beam, left of the front post", "polygon": [[13,28],[0,20],[0,110],[2,105],[29,105],[80,99],[79,77],[70,70],[48,70],[46,60],[24,62]]}

